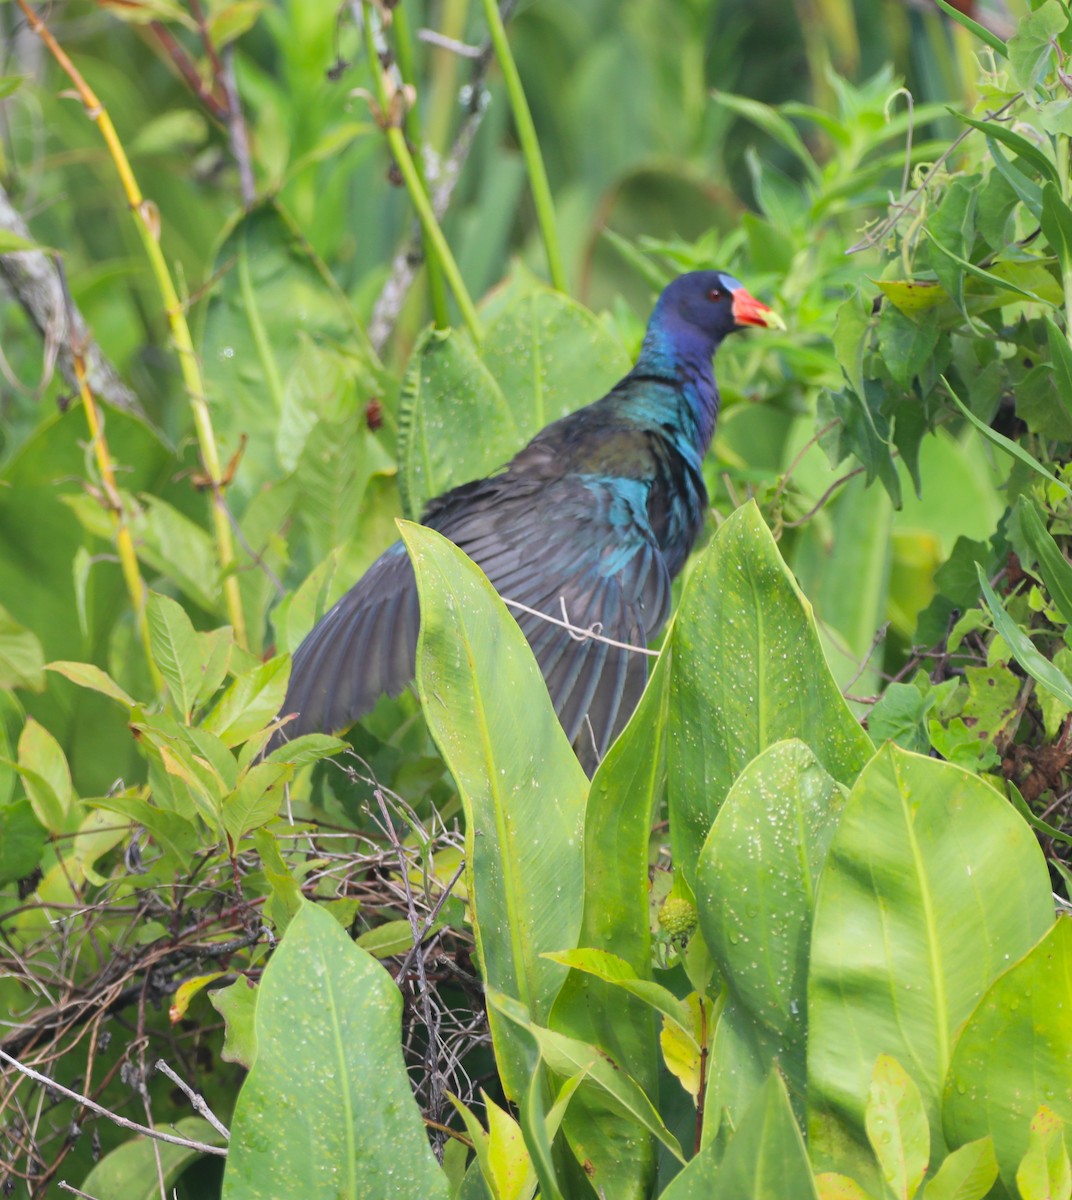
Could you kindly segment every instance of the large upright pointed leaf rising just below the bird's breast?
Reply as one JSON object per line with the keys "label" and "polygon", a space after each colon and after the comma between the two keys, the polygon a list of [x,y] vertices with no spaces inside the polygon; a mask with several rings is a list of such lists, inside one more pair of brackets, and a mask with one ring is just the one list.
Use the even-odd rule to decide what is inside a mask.
{"label": "large upright pointed leaf rising just below the bird's breast", "polygon": [[730,786],[767,746],[801,738],[846,785],[874,746],[834,683],[812,605],[754,502],[700,556],[669,641],[670,835],[675,865],[691,881]]}

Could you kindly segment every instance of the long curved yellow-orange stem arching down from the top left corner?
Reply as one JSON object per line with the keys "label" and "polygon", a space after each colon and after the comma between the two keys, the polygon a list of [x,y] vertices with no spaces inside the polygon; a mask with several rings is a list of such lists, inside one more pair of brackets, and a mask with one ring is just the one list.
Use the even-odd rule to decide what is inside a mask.
{"label": "long curved yellow-orange stem arching down from the top left corner", "polygon": [[190,406],[193,412],[193,426],[197,434],[198,446],[200,449],[200,457],[212,493],[212,523],[216,533],[216,552],[220,559],[220,570],[223,576],[223,598],[227,605],[227,616],[234,628],[235,641],[239,646],[245,647],[246,622],[242,614],[238,577],[234,575],[234,541],[230,532],[230,522],[223,506],[223,491],[226,481],[223,479],[220,463],[220,451],[216,446],[216,434],[212,430],[212,419],[209,413],[209,406],[205,401],[204,386],[200,378],[200,366],[193,350],[193,340],[190,336],[190,325],[186,322],[186,312],[182,308],[178,293],[175,292],[175,286],[172,282],[170,271],[168,270],[167,260],[163,257],[163,251],[160,248],[157,230],[152,227],[155,222],[155,209],[146,204],[145,198],[142,196],[142,190],[138,187],[138,181],[134,179],[133,170],[131,170],[130,160],[126,156],[126,151],[122,149],[122,143],[119,140],[119,134],[115,132],[112,118],[97,98],[96,92],[94,92],[82,77],[82,72],[74,66],[64,48],[53,37],[48,26],[30,7],[28,0],[17,0],[17,2],[19,8],[23,11],[30,29],[32,29],[34,32],[41,38],[48,52],[74,84],[82,103],[85,106],[86,115],[100,130],[101,137],[104,139],[104,145],[108,148],[108,152],[115,164],[115,170],[119,175],[120,182],[122,184],[122,191],[134,217],[134,227],[138,230],[138,236],[142,239],[142,245],[145,248],[146,257],[149,258],[152,276],[156,280],[156,286],[160,290],[161,300],[163,301],[164,313],[172,332],[172,341],[179,355],[179,368],[182,373],[182,382],[185,383],[186,391],[190,396]]}

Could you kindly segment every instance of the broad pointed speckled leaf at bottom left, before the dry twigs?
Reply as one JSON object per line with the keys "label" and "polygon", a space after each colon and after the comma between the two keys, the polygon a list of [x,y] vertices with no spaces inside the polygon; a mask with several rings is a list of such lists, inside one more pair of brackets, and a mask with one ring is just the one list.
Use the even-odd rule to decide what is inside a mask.
{"label": "broad pointed speckled leaf at bottom left, before the dry twigs", "polygon": [[234,1110],[223,1200],[447,1200],[387,971],[306,902],[257,992],[257,1058]]}

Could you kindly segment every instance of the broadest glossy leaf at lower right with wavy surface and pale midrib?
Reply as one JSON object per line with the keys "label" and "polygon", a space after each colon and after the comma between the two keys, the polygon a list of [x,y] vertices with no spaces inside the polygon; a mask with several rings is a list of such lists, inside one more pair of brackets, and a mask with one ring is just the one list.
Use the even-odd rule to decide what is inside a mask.
{"label": "broadest glossy leaf at lower right with wavy surface and pale midrib", "polygon": [[[934,758],[875,755],[834,834],[812,934],[809,1130],[824,1162],[868,1184],[868,1064],[880,1054],[909,1064],[944,1156],[957,1030],[1052,920],[1038,842],[1002,796]],[[976,1135],[946,1132],[954,1144]]]}

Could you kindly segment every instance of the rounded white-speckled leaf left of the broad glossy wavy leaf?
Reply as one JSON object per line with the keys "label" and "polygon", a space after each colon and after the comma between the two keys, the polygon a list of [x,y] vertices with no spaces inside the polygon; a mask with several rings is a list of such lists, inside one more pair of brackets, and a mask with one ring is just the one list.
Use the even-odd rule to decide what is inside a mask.
{"label": "rounded white-speckled leaf left of the broad glossy wavy leaf", "polygon": [[[779,742],[742,772],[700,851],[700,928],[735,1001],[723,1019],[739,1032],[727,1040],[721,1031],[713,1056],[715,1118],[725,1110],[733,1124],[741,1120],[751,1102],[742,1081],[751,1074],[759,1086],[774,1055],[803,1115],[812,913],[843,806],[815,755],[802,742]],[[755,1037],[748,1025],[761,1027]],[[749,1058],[765,1054],[751,1072],[730,1051],[742,1042]],[[712,1135],[705,1128],[705,1140]]]}

